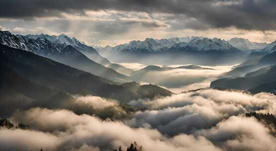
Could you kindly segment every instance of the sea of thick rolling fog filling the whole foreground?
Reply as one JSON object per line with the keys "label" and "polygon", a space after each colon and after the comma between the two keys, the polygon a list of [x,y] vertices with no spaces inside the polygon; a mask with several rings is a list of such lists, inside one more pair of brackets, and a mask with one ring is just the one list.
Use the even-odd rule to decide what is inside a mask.
{"label": "sea of thick rolling fog filling the whole foreground", "polygon": [[[102,112],[117,106],[99,97],[78,99]],[[0,146],[3,151],[113,151],[119,146],[125,150],[136,141],[143,151],[275,151],[275,130],[245,117],[255,110],[276,114],[275,100],[270,93],[207,88],[155,100],[133,100],[133,107],[147,110],[115,121],[36,107],[9,118],[32,129],[0,128]]]}

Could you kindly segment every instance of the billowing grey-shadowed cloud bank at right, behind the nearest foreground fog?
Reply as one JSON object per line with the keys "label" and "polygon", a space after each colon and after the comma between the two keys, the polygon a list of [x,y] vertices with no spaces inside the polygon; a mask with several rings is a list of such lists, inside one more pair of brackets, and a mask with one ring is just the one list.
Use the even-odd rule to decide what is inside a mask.
{"label": "billowing grey-shadowed cloud bank at right, behind the nearest foreground fog", "polygon": [[149,110],[137,112],[126,123],[133,127],[156,128],[171,136],[193,134],[233,115],[255,110],[275,113],[275,100],[276,96],[270,93],[251,95],[242,91],[202,89],[153,101],[132,101],[132,106]]}

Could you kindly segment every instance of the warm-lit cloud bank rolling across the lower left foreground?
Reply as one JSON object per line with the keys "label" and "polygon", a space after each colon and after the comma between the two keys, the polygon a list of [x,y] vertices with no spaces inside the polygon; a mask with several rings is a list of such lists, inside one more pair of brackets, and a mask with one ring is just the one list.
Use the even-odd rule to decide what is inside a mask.
{"label": "warm-lit cloud bank rolling across the lower left foreground", "polygon": [[122,122],[102,121],[89,115],[75,115],[68,110],[32,108],[14,115],[12,121],[28,122],[36,131],[0,129],[0,146],[4,150],[81,151],[89,148],[92,151],[111,151],[120,145],[126,148],[136,141],[145,150],[221,151],[204,137],[180,135],[166,138],[157,130],[130,128]]}

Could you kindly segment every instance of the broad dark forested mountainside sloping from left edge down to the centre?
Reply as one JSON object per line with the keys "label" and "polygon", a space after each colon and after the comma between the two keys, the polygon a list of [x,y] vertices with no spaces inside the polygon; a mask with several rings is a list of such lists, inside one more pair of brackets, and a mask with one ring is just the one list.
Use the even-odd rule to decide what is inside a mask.
{"label": "broad dark forested mountainside sloping from left edge down to the centre", "polygon": [[[28,51],[4,45],[0,45],[0,65],[1,71],[10,73],[1,75],[1,86],[6,86],[7,90],[12,89],[16,93],[16,95],[9,95],[5,98],[15,99],[20,94],[20,96],[28,98],[27,100],[30,101],[41,99],[46,101],[52,96],[56,96],[56,94],[65,97],[70,95],[95,95],[127,103],[141,97],[148,97],[148,94],[134,92],[106,78],[92,75]],[[150,86],[149,89],[152,89],[155,95],[163,94],[162,91],[171,94],[171,92],[158,86]],[[142,88],[140,90],[143,91]],[[6,96],[5,93],[1,95],[1,97],[4,96]],[[56,100],[60,101],[63,98],[59,97]]]}

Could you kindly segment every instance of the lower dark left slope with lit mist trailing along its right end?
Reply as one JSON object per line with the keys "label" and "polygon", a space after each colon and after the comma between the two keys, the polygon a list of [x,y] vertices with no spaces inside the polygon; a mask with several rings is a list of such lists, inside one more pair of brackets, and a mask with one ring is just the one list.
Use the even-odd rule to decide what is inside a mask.
{"label": "lower dark left slope with lit mist trailing along its right end", "polygon": [[[124,103],[114,108],[99,111],[94,106],[76,99],[68,93],[51,89],[17,75],[11,69],[0,65],[0,117],[9,117],[14,112],[33,107],[48,109],[69,109],[75,114],[97,115],[101,119],[117,119],[128,115],[133,109]],[[120,108],[119,111],[116,108]],[[106,114],[108,113],[108,114]]]}

